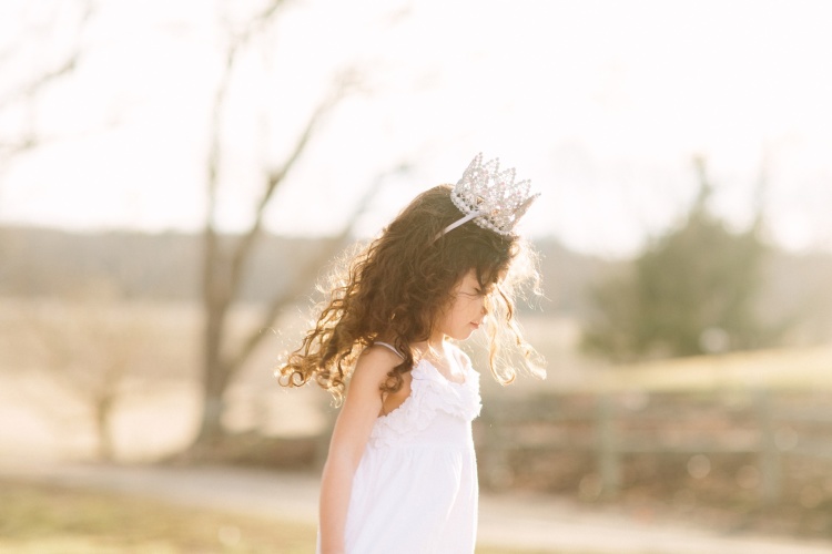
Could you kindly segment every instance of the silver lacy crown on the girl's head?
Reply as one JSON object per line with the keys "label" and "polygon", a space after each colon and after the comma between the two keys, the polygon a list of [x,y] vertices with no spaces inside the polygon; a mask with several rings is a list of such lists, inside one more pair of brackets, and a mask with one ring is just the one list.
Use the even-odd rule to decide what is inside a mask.
{"label": "silver lacy crown on the girl's head", "polygon": [[515,170],[499,171],[500,161],[483,163],[483,153],[468,164],[450,192],[450,199],[465,217],[448,225],[443,234],[474,219],[483,228],[500,235],[511,229],[540,193],[529,194],[531,181],[515,182]]}

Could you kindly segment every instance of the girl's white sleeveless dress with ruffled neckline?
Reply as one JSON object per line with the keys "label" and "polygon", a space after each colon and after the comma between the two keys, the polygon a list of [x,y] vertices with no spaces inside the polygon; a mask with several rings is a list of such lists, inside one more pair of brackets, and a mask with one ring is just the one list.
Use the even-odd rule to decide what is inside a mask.
{"label": "girl's white sleeveless dress with ruffled neckline", "polygon": [[464,383],[423,359],[412,370],[410,396],[376,420],[353,480],[347,554],[474,552],[478,484],[471,421],[481,404],[479,373],[461,357]]}

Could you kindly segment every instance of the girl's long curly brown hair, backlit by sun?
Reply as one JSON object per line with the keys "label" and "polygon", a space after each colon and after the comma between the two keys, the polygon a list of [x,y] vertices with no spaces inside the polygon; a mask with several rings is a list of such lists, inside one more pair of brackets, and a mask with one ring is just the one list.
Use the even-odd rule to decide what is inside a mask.
{"label": "girl's long curly brown hair, backlit by sun", "polygon": [[494,377],[507,384],[516,376],[511,366],[498,363],[507,336],[524,365],[541,373],[514,319],[516,295],[527,289],[539,294],[534,252],[519,236],[499,235],[474,222],[442,234],[463,216],[450,189],[439,185],[418,195],[378,238],[349,255],[344,268],[332,275],[329,298],[317,308],[314,326],[276,371],[282,384],[301,387],[315,380],[339,402],[358,355],[384,340],[404,359],[381,391],[399,390],[403,375],[414,367],[410,345],[430,337],[456,284],[471,269],[487,291],[485,327]]}

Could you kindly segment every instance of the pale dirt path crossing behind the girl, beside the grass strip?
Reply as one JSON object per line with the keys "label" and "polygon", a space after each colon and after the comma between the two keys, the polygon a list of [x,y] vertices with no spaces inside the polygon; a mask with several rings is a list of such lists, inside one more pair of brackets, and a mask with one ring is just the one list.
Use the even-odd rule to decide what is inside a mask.
{"label": "pale dirt path crossing behind the girl, beside the grass strip", "polygon": [[[159,497],[288,521],[314,522],[318,481],[308,474],[237,468],[0,464],[0,474]],[[593,554],[829,554],[832,542],[758,535],[723,536],[682,524],[646,524],[570,502],[484,494],[481,544]]]}

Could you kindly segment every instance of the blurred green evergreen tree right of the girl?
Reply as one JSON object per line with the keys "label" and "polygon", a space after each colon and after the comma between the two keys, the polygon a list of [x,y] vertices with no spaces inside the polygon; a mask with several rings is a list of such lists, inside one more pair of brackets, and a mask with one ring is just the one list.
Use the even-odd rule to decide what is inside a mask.
{"label": "blurred green evergreen tree right of the girl", "polygon": [[697,167],[699,195],[684,223],[592,290],[588,348],[636,360],[749,349],[774,339],[754,314],[765,254],[759,209],[749,230],[726,228],[708,209],[712,188],[704,163]]}

